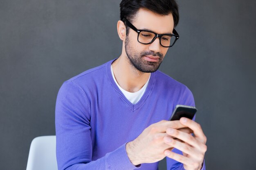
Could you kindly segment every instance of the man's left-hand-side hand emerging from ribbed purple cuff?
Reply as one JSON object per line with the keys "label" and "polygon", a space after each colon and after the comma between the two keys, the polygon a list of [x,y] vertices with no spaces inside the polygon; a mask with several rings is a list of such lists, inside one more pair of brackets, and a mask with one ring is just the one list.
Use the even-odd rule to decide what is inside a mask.
{"label": "man's left-hand-side hand emerging from ribbed purple cuff", "polygon": [[[133,141],[126,144],[127,155],[133,165],[141,163],[153,163],[160,161],[166,157],[164,150],[170,148],[164,142],[167,128],[182,129],[185,128],[179,120],[167,121],[162,120],[155,124],[151,124]],[[191,133],[190,129],[183,129],[187,133]]]}

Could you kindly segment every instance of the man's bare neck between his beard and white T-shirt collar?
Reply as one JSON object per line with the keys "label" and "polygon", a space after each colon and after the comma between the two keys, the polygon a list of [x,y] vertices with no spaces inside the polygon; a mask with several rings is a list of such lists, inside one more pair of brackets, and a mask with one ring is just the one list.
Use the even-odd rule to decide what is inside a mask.
{"label": "man's bare neck between his beard and white T-shirt collar", "polygon": [[137,70],[126,56],[120,56],[112,63],[117,83],[128,92],[139,91],[148,81],[150,73]]}

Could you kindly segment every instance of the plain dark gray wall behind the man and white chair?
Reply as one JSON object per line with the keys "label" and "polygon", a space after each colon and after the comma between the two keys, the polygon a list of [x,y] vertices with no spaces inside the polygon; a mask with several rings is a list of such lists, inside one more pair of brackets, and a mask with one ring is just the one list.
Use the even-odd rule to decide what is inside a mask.
{"label": "plain dark gray wall behind the man and white chair", "polygon": [[[65,80],[121,54],[119,3],[0,0],[0,169],[25,169],[31,140],[55,135]],[[178,3],[180,39],[160,70],[194,94],[207,169],[256,169],[256,1]]]}

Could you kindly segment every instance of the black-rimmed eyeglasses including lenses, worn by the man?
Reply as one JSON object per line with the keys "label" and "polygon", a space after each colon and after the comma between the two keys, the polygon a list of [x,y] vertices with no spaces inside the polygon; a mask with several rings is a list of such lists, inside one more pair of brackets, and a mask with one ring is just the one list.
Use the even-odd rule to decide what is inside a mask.
{"label": "black-rimmed eyeglasses including lenses, worn by the man", "polygon": [[132,28],[135,32],[138,33],[138,42],[141,44],[151,44],[155,41],[157,37],[159,37],[159,41],[161,46],[169,48],[172,47],[177,39],[179,39],[179,34],[173,28],[173,34],[157,34],[148,30],[138,30],[134,25],[132,25],[126,18],[124,20],[126,25]]}

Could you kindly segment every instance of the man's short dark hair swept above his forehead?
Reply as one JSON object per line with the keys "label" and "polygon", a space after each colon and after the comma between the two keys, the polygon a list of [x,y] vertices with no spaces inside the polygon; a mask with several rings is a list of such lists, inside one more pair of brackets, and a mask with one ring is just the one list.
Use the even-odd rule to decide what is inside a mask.
{"label": "man's short dark hair swept above his forehead", "polygon": [[124,18],[126,18],[132,22],[140,8],[146,8],[160,15],[171,13],[173,15],[174,27],[179,22],[178,5],[175,0],[122,0],[120,3],[121,21],[124,21]]}

